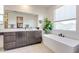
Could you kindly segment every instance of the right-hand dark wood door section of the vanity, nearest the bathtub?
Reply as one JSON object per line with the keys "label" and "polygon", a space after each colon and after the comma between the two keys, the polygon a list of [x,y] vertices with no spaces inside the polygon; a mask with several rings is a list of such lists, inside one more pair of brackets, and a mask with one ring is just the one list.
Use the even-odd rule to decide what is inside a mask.
{"label": "right-hand dark wood door section of the vanity, nearest the bathtub", "polygon": [[28,31],[27,38],[29,39],[29,44],[38,43],[42,41],[41,31]]}

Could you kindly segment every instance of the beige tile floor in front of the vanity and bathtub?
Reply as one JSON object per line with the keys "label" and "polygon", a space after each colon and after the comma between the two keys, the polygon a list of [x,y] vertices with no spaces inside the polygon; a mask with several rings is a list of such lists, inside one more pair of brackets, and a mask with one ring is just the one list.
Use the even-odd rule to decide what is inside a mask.
{"label": "beige tile floor in front of the vanity and bathtub", "polygon": [[12,49],[8,51],[3,51],[0,49],[0,52],[5,53],[53,53],[48,47],[46,47],[43,43],[34,44],[30,46],[25,46],[17,49]]}

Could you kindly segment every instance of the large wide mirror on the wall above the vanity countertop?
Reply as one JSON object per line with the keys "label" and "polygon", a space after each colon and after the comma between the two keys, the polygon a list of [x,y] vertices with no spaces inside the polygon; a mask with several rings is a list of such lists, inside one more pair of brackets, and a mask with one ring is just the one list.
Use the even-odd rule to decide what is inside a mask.
{"label": "large wide mirror on the wall above the vanity countertop", "polygon": [[36,28],[38,15],[5,10],[4,28]]}

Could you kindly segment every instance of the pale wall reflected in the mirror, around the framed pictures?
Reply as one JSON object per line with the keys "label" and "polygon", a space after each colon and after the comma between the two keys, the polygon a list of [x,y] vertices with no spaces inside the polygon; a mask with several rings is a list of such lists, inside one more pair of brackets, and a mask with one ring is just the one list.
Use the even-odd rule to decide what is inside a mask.
{"label": "pale wall reflected in the mirror, around the framed pictures", "polygon": [[31,15],[31,14],[20,13],[20,12],[9,12],[8,13],[8,24],[14,24],[15,25],[14,27],[17,28],[16,27],[17,16],[23,17],[23,27],[25,27],[26,24],[29,24],[30,27],[37,27],[37,15]]}

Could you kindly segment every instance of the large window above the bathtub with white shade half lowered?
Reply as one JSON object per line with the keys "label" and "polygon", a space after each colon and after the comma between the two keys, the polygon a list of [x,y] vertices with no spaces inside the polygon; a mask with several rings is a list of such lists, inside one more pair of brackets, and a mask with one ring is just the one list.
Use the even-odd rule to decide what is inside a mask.
{"label": "large window above the bathtub with white shade half lowered", "polygon": [[62,6],[55,10],[54,29],[76,30],[76,6]]}

